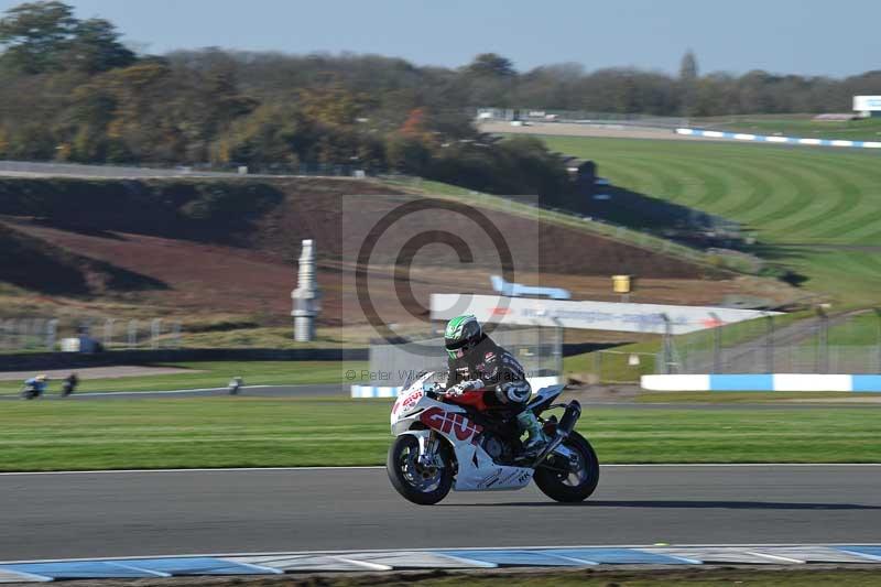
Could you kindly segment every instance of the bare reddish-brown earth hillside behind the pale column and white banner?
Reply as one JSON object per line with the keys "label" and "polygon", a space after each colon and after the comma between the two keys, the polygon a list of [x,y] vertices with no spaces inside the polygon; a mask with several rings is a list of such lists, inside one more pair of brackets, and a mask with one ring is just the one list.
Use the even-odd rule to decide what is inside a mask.
{"label": "bare reddish-brown earth hillside behind the pale column and white banner", "polygon": [[[344,235],[344,226],[354,211],[358,222],[374,222],[394,208],[401,197],[395,192],[380,183],[329,178],[3,180],[0,236],[21,244],[0,265],[0,280],[21,289],[19,296],[52,294],[56,301],[91,304],[96,312],[101,304],[124,302],[184,317],[231,314],[284,324],[293,261],[301,239],[313,238],[323,323],[349,324],[359,317],[350,312],[351,249],[359,242]],[[344,199],[355,194],[356,199]],[[537,247],[526,243],[533,257],[518,259],[519,280],[566,286],[579,297],[609,298],[609,275],[620,272],[640,275],[646,302],[718,303],[757,290],[757,282],[726,279],[572,227],[500,211],[491,217],[505,235],[541,235]],[[437,228],[431,216],[413,222],[411,230]],[[449,224],[444,228],[457,231]],[[391,272],[401,244],[391,238],[371,258],[371,294],[381,311],[407,319],[398,307]],[[489,292],[491,264],[432,263],[431,256],[414,263],[409,282],[416,298],[432,292]],[[31,273],[39,278],[25,278]]]}

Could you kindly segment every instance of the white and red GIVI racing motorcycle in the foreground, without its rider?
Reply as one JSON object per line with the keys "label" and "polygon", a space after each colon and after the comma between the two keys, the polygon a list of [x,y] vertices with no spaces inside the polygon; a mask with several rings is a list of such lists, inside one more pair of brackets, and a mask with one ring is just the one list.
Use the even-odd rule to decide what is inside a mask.
{"label": "white and red GIVI racing motorcycle in the foreground, without its rider", "polygon": [[[580,404],[554,401],[563,385],[540,390],[527,405],[551,441],[537,455],[523,456],[520,428],[513,418],[490,417],[468,405],[452,403],[443,393],[440,373],[426,372],[406,385],[392,406],[395,436],[385,468],[392,486],[405,499],[431,506],[457,491],[514,490],[532,479],[547,497],[583,501],[599,482],[599,461],[590,443],[575,432]],[[542,417],[563,407],[563,416]]]}

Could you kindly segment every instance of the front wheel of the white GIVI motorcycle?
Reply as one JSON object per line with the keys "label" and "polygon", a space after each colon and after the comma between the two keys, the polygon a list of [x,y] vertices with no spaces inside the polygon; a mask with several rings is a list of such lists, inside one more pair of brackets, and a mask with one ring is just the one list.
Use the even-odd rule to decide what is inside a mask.
{"label": "front wheel of the white GIVI motorcycle", "polygon": [[392,487],[407,501],[433,506],[453,488],[453,459],[449,446],[438,442],[435,463],[425,467],[418,463],[420,442],[412,434],[398,436],[389,447],[385,470]]}

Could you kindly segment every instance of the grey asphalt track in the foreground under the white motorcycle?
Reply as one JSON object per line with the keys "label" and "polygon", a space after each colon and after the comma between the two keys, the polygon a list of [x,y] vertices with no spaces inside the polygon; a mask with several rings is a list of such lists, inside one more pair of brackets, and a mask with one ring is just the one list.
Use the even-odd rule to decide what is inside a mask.
{"label": "grey asphalt track in the foreground under the white motorcycle", "polygon": [[881,534],[881,466],[609,466],[587,502],[534,487],[405,502],[382,468],[0,475],[0,559],[707,543]]}

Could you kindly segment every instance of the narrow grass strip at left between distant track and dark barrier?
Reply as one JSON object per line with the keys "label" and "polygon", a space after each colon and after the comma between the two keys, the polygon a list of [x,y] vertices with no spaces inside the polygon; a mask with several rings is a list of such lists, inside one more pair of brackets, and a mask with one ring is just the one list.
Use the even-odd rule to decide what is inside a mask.
{"label": "narrow grass strip at left between distant track and dark barrier", "polygon": [[[300,385],[338,383],[347,369],[360,370],[367,361],[204,361],[163,363],[155,367],[193,369],[192,373],[164,376],[88,379],[83,376],[77,392],[93,391],[166,391],[225,387],[232,377],[243,377],[246,385]],[[76,369],[73,369],[76,371]],[[20,381],[0,381],[0,394],[17,393]],[[61,389],[59,381],[50,382],[50,393]]]}

